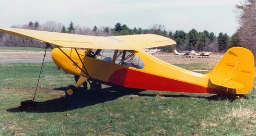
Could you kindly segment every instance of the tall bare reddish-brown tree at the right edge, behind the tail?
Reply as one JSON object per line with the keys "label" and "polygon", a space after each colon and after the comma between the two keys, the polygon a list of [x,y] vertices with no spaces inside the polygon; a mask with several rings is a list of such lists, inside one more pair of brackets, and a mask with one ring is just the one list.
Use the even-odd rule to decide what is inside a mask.
{"label": "tall bare reddish-brown tree at the right edge, behind the tail", "polygon": [[237,36],[240,46],[249,48],[256,54],[256,1],[247,0],[244,4],[236,5],[239,12],[240,28]]}

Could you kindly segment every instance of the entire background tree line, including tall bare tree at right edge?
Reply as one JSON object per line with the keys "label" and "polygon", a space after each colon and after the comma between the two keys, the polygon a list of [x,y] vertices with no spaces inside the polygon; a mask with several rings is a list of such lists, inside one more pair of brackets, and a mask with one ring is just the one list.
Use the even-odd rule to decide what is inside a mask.
{"label": "entire background tree line, including tall bare tree at right edge", "polygon": [[[256,9],[255,0],[247,0],[245,4],[236,5],[239,10],[240,28],[231,37],[227,33],[220,32],[216,35],[213,32],[204,30],[202,32],[195,29],[186,33],[183,30],[174,32],[167,31],[162,24],[153,24],[148,29],[129,28],[126,24],[120,22],[114,24],[113,27],[81,27],[71,21],[67,27],[61,22],[46,21],[40,24],[38,21],[30,21],[28,24],[12,26],[12,28],[32,29],[50,32],[73,33],[95,36],[113,36],[113,35],[129,35],[129,34],[158,34],[171,38],[177,42],[176,46],[162,47],[166,52],[172,52],[173,48],[178,51],[211,51],[225,52],[233,46],[243,46],[249,48],[254,54],[256,53]],[[33,46],[44,47],[41,42],[18,38],[12,35],[0,33],[0,46]]]}

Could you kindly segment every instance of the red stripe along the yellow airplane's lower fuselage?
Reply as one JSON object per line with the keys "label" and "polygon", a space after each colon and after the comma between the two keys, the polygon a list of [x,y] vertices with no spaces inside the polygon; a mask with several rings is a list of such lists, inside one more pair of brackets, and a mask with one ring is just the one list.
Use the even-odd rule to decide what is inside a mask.
{"label": "red stripe along the yellow airplane's lower fuselage", "polygon": [[188,93],[218,93],[225,92],[205,88],[200,85],[182,82],[174,79],[160,77],[149,73],[136,71],[132,69],[119,69],[112,73],[109,83],[124,86],[126,88],[172,91],[172,92],[188,92]]}

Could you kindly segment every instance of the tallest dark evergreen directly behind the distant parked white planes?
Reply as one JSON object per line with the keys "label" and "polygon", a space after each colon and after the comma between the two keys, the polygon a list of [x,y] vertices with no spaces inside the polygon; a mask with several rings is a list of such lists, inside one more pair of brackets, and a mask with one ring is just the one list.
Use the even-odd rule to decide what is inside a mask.
{"label": "tallest dark evergreen directly behind the distant parked white planes", "polygon": [[192,48],[196,48],[196,42],[198,39],[198,32],[195,29],[192,29],[188,33],[188,50],[191,51]]}

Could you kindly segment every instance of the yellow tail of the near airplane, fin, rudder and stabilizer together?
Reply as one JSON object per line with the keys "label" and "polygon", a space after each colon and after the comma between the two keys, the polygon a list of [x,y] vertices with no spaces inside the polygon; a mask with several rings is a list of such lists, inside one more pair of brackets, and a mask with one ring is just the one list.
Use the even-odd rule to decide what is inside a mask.
{"label": "yellow tail of the near airplane, fin, rudder and stabilizer together", "polygon": [[255,77],[253,54],[246,48],[232,47],[208,75],[213,84],[234,89],[235,94],[246,94]]}

